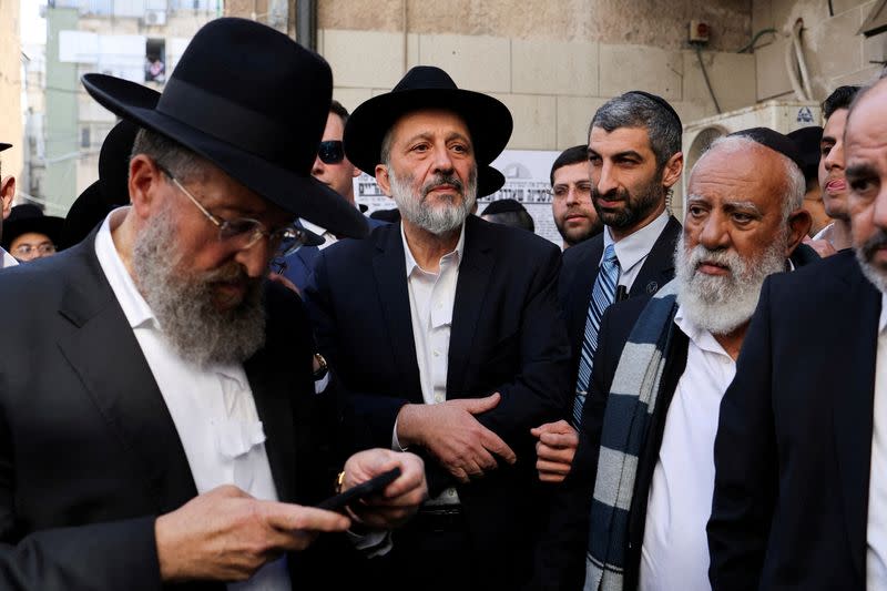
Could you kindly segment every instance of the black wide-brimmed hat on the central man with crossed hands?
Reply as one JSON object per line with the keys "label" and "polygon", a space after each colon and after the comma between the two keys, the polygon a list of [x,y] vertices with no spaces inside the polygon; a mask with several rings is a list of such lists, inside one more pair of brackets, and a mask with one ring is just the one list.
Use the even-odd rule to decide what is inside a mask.
{"label": "black wide-brimmed hat on the central man with crossed hands", "polygon": [[[511,137],[513,121],[504,104],[487,94],[458,88],[440,68],[417,65],[391,92],[361,103],[348,118],[345,124],[348,160],[361,171],[374,174],[381,160],[379,153],[385,134],[402,115],[419,109],[446,109],[465,120],[471,132],[480,176]],[[483,184],[480,179],[479,184]]]}

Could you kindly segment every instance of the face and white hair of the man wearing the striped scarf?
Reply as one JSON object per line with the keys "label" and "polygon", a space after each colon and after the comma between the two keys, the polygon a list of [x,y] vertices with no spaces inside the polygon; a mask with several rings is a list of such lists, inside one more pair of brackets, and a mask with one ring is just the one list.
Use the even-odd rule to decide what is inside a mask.
{"label": "face and white hair of the man wearing the striped scarf", "polygon": [[714,147],[693,169],[684,232],[675,256],[679,302],[713,334],[751,318],[764,278],[809,227],[784,220],[785,164],[758,144]]}

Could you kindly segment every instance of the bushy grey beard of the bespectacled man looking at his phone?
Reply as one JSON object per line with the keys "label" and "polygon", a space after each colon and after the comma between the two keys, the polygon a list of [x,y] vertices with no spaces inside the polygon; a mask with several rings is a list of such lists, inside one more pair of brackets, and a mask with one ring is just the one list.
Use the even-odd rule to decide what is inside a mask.
{"label": "bushy grey beard of the bespectacled man looking at his phone", "polygon": [[[132,255],[139,291],[163,338],[177,355],[201,367],[245,361],[265,344],[263,278],[251,278],[233,261],[212,271],[182,271],[187,259],[177,248],[167,207],[136,237]],[[218,309],[215,289],[228,282],[245,285],[244,296]]]}

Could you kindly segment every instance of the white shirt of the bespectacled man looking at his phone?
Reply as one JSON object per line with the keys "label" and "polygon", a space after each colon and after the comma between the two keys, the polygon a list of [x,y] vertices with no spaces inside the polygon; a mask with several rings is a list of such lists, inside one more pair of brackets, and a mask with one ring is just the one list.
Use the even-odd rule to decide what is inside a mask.
{"label": "white shirt of the bespectacled man looking at his phone", "polygon": [[[111,228],[122,221],[121,210],[105,217],[95,237],[95,254],[170,410],[197,492],[234,485],[257,499],[276,501],[265,432],[243,366],[202,368],[171,350],[114,246]],[[286,559],[265,564],[248,581],[227,588],[289,590]]]}

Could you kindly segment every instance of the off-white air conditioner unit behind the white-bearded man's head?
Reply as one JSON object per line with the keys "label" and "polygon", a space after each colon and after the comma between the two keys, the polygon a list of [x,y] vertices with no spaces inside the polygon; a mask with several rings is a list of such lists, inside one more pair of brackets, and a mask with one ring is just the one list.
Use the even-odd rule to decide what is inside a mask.
{"label": "off-white air conditioner unit behind the white-bearded man's head", "polygon": [[[686,206],[686,183],[690,171],[708,146],[723,135],[748,128],[769,128],[788,133],[808,125],[820,125],[823,112],[819,103],[772,100],[728,113],[722,113],[684,125],[684,174],[682,180],[681,214]],[[674,204],[676,205],[676,204]]]}

